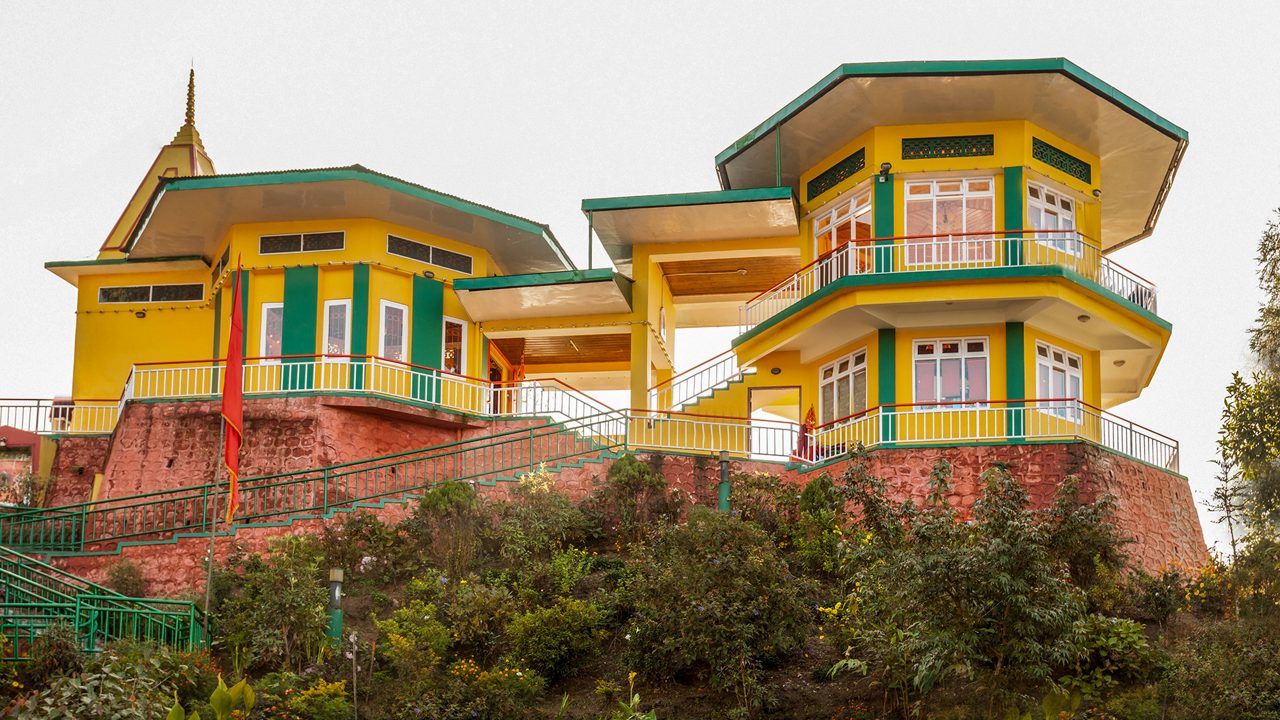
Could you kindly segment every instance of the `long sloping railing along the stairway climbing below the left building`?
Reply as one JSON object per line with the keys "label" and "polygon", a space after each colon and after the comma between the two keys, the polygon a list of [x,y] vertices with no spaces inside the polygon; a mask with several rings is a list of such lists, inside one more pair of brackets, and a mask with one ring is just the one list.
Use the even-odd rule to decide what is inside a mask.
{"label": "long sloping railing along the stairway climbing below the left building", "polygon": [[[358,502],[401,498],[445,480],[492,483],[599,455],[626,443],[626,415],[603,413],[447,445],[239,482],[237,524],[329,516]],[[225,483],[209,483],[0,516],[0,544],[78,553],[131,538],[207,533],[225,514]]]}

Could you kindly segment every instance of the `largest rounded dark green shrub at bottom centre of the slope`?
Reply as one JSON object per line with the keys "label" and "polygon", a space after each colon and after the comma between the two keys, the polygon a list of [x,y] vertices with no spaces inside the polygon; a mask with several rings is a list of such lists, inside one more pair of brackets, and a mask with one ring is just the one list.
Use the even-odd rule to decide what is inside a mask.
{"label": "largest rounded dark green shrub at bottom centre of the slope", "polygon": [[762,666],[810,625],[812,583],[791,574],[764,530],[719,512],[694,507],[636,571],[626,662],[668,678],[704,673],[742,710],[763,700]]}

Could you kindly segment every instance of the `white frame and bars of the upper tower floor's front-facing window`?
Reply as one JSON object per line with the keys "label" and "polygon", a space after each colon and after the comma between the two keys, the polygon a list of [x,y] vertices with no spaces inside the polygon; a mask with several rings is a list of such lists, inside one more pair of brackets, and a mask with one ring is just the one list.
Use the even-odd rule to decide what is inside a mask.
{"label": "white frame and bars of the upper tower floor's front-facing window", "polygon": [[[969,186],[972,183],[979,183],[979,182],[987,183],[987,188],[988,190],[986,190],[986,191],[970,191]],[[959,192],[940,191],[938,190],[938,184],[940,183],[960,183],[960,191]],[[920,195],[911,195],[911,188],[922,187],[922,186],[928,186],[929,187],[929,192],[928,193],[920,193]],[[969,227],[969,214],[965,211],[965,202],[970,197],[989,197],[991,199],[991,228],[970,228]],[[996,236],[995,234],[996,233],[996,178],[992,177],[992,176],[970,176],[970,177],[960,177],[960,178],[928,178],[928,179],[906,181],[902,184],[902,228],[904,228],[905,233],[908,236],[911,236],[911,234],[940,236],[940,233],[938,233],[938,200],[950,200],[950,199],[960,199],[960,232],[961,233],[989,232],[991,233],[991,238],[995,238],[995,236]],[[929,233],[915,233],[914,231],[911,231],[910,228],[906,227],[906,223],[909,222],[909,218],[910,218],[910,215],[908,214],[908,209],[909,209],[911,201],[919,201],[919,200],[931,200],[932,204],[933,204],[933,215],[932,215],[932,222],[929,223],[929,225],[932,228],[932,232],[929,232]],[[997,260],[995,242],[992,242],[988,238],[983,238],[983,236],[980,236],[980,234],[975,234],[975,236],[963,234],[963,236],[950,236],[950,237],[954,237],[955,240],[946,240],[946,238],[934,237],[934,240],[932,242],[928,242],[928,243],[925,241],[915,241],[915,242],[913,242],[910,240],[904,240],[902,241],[902,243],[904,243],[902,254],[906,258],[906,264],[908,265],[952,265],[952,264],[957,264],[957,263],[959,264],[973,264],[973,263],[989,264],[989,263],[995,263]],[[948,249],[947,250],[947,259],[946,260],[940,260],[937,258],[938,254],[936,252],[936,249],[938,247],[940,242],[946,243],[946,247]],[[974,242],[980,242],[982,245],[979,247],[982,247],[984,250],[980,250],[977,254],[977,256],[970,256],[972,255],[970,250],[972,250]],[[957,259],[955,256],[956,255],[956,250],[960,251],[960,254],[963,255],[963,258]],[[924,259],[920,259],[922,255],[927,255],[927,256]]]}

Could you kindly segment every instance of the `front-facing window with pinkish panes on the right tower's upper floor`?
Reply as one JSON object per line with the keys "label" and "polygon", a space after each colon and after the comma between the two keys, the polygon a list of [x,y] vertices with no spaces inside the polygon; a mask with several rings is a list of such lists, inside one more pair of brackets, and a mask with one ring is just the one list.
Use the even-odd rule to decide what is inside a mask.
{"label": "front-facing window with pinkish panes on the right tower's upper floor", "polygon": [[991,178],[906,183],[906,261],[952,265],[996,259],[996,192]]}

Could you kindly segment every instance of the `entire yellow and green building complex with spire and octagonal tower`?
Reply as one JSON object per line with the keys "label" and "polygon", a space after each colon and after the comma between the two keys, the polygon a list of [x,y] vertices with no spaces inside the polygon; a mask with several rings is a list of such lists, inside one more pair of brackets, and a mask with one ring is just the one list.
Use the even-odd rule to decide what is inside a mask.
{"label": "entire yellow and green building complex with spire and octagonal tower", "polygon": [[[360,165],[218,174],[192,76],[186,122],[97,256],[47,263],[77,292],[70,398],[0,401],[0,427],[69,457],[46,505],[207,489],[212,459],[184,465],[191,438],[165,428],[216,432],[239,273],[262,474],[554,429],[559,445],[480,469],[451,450],[430,478],[540,462],[568,487],[584,457],[641,452],[805,482],[864,447],[899,478],[937,457],[961,484],[1039,468],[1039,500],[1083,473],[1128,509],[1146,562],[1194,560],[1176,441],[1110,413],[1171,332],[1155,283],[1111,255],[1152,234],[1187,145],[1065,59],[846,64],[719,152],[718,190],[584,200],[612,266],[582,269],[541,223]],[[731,346],[677,372],[677,331],[713,327],[736,328]]]}

